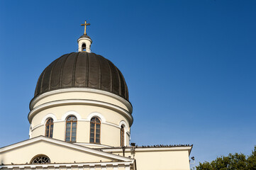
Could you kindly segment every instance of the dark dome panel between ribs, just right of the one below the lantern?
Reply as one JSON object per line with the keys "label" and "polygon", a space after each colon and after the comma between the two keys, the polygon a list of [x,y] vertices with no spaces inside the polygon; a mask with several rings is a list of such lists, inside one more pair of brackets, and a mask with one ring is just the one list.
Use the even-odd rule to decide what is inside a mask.
{"label": "dark dome panel between ribs, just right of the one below the lantern", "polygon": [[[91,55],[95,55],[92,53]],[[89,56],[88,87],[99,89],[99,63],[96,57]]]}

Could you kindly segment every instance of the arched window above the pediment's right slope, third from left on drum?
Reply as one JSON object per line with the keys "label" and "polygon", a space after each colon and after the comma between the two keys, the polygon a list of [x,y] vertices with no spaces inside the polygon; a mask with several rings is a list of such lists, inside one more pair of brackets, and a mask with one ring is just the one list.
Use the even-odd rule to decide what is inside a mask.
{"label": "arched window above the pediment's right slope, third from left on drum", "polygon": [[101,142],[101,121],[99,118],[91,118],[90,143]]}

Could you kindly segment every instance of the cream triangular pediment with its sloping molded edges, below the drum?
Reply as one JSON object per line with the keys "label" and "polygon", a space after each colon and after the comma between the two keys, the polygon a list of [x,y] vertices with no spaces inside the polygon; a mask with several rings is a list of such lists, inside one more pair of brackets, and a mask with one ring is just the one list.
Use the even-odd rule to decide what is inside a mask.
{"label": "cream triangular pediment with its sloping molded edges, below the drum", "polygon": [[51,162],[130,162],[133,159],[110,154],[98,149],[82,147],[72,143],[48,137],[35,137],[0,148],[0,159],[3,164],[30,164],[36,155],[44,154]]}

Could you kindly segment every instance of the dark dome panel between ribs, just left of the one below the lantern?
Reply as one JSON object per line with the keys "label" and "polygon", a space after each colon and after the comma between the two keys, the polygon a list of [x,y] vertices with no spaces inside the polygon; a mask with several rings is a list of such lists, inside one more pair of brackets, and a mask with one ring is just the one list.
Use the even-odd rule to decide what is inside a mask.
{"label": "dark dome panel between ribs, just left of the one below the lantern", "polygon": [[62,81],[60,82],[61,87],[72,86],[74,59],[74,53],[70,53],[70,55],[67,56],[67,60],[62,68]]}

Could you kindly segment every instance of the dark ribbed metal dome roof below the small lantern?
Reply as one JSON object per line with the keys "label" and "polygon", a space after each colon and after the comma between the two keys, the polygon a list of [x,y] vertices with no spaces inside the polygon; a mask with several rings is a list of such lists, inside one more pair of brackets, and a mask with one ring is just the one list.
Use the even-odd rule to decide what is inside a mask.
{"label": "dark ribbed metal dome roof below the small lantern", "polygon": [[128,101],[128,87],[120,70],[109,60],[89,52],[72,52],[53,61],[42,72],[35,97],[48,91],[89,88],[111,92]]}

